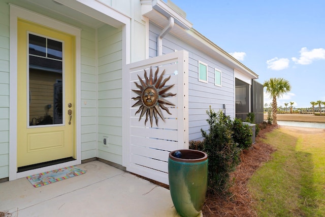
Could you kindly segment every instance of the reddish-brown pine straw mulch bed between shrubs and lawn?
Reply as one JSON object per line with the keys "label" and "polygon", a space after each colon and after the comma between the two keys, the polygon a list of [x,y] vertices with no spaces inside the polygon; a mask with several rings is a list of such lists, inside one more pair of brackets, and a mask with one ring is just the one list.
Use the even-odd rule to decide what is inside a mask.
{"label": "reddish-brown pine straw mulch bed between shrubs and lawn", "polygon": [[259,131],[255,144],[249,150],[244,150],[241,155],[241,163],[236,171],[231,173],[230,180],[234,180],[229,195],[207,194],[203,216],[257,216],[253,209],[253,199],[248,191],[247,183],[257,168],[271,159],[271,153],[275,151],[270,145],[263,143],[261,138],[273,131],[278,125],[267,125]]}

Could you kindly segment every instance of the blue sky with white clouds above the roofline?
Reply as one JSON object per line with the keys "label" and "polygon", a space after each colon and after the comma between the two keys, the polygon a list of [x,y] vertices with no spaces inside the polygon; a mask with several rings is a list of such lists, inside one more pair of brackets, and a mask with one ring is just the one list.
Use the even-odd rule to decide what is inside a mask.
{"label": "blue sky with white clouds above the roofline", "polygon": [[[167,2],[167,0],[166,0]],[[287,79],[278,106],[325,101],[325,1],[173,0],[193,28],[259,75]],[[264,96],[264,103],[270,103]]]}

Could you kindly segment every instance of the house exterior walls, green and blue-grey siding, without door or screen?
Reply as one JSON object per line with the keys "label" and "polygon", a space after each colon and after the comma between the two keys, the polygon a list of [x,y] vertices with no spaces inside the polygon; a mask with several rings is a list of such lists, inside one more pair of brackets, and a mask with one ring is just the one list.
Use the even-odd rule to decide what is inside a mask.
{"label": "house exterior walls, green and blue-grey siding, without door or screen", "polygon": [[[100,8],[95,9],[99,11],[98,14],[93,13],[89,16],[104,23],[107,22],[106,18],[114,15],[115,21],[120,23],[111,23],[115,26],[113,27],[108,24],[86,25],[87,22],[79,21],[69,14],[67,17],[62,16],[60,11],[56,13],[52,8],[47,10],[46,7],[37,6],[32,1],[0,0],[0,179],[9,176],[9,123],[11,121],[9,120],[10,10],[8,2],[81,29],[81,60],[80,65],[78,64],[81,80],[77,83],[81,91],[80,98],[78,97],[81,111],[81,160],[99,157],[122,165],[122,115],[128,116],[122,113],[123,67],[130,62],[156,56],[156,37],[161,32],[161,28],[152,23],[149,25],[149,19],[142,16],[140,1],[64,2],[68,4],[64,7],[69,8],[71,12],[74,12],[73,6],[76,6],[78,15],[84,13],[81,14],[82,16],[87,16],[88,11],[79,11],[81,8],[77,6],[80,6],[78,5],[81,4],[80,2],[90,8],[100,5]],[[104,18],[102,16],[104,12],[101,11],[103,8],[110,12]],[[201,140],[201,128],[208,129],[206,110],[210,105],[212,109],[218,111],[223,109],[225,104],[226,115],[233,117],[235,114],[234,69],[181,39],[167,34],[163,39],[163,54],[175,50],[186,50],[189,53],[189,140]],[[198,61],[208,65],[208,83],[198,80]],[[214,85],[215,68],[222,71],[221,87]],[[107,145],[103,144],[104,138],[107,139]],[[10,152],[12,153],[14,152]]]}

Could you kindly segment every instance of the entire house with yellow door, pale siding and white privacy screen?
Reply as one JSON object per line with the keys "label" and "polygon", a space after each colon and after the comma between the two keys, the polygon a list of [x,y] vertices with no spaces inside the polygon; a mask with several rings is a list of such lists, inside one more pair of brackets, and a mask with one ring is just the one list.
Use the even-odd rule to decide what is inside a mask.
{"label": "entire house with yellow door, pale siding and white privacy screen", "polygon": [[98,159],[168,183],[209,106],[263,112],[258,75],[170,2],[0,0],[0,20],[0,181]]}

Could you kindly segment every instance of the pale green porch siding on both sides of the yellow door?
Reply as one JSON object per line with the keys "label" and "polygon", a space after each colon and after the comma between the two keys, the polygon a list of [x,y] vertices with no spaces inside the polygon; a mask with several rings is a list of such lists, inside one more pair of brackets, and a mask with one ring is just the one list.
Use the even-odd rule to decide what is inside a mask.
{"label": "pale green porch siding on both sides of the yellow door", "polygon": [[[41,11],[38,8],[35,8],[35,12],[81,29],[81,82],[77,84],[81,86],[81,160],[101,157],[122,164],[122,29],[115,29],[109,25],[96,29],[73,19],[65,19],[55,13]],[[9,17],[9,4],[7,1],[1,0],[0,179],[9,177]],[[109,59],[106,59],[108,56]],[[106,106],[108,104],[109,106]],[[114,107],[112,105],[115,108],[109,108]],[[104,148],[103,151],[103,147],[99,147],[100,142],[98,141],[101,141],[102,144],[101,138],[104,134],[109,135],[110,140],[109,149]]]}

